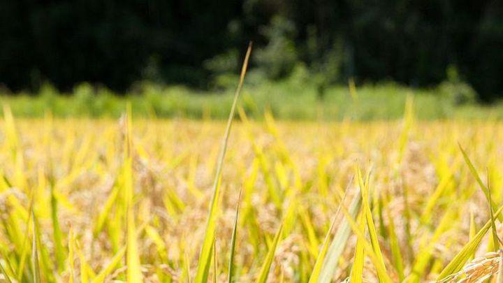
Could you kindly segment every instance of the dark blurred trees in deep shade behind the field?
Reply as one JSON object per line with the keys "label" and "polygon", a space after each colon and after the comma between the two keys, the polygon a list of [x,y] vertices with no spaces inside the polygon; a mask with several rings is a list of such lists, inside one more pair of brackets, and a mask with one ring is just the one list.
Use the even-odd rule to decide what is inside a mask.
{"label": "dark blurred trees in deep shade behind the field", "polygon": [[483,100],[503,94],[500,0],[0,1],[0,37],[0,83],[13,90],[218,87],[235,82],[252,40],[257,73],[303,72],[320,94],[348,78],[463,80]]}

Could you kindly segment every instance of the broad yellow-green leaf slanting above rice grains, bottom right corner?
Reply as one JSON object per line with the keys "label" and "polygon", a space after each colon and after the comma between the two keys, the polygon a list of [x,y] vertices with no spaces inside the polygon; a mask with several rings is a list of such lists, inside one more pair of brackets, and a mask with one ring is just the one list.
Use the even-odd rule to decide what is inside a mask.
{"label": "broad yellow-green leaf slanting above rice grains, bottom right corner", "polygon": [[[500,215],[503,210],[503,206],[496,210],[494,217]],[[469,258],[474,254],[476,249],[479,247],[480,242],[484,235],[491,227],[491,221],[489,220],[486,224],[476,233],[472,240],[469,240],[467,244],[454,256],[454,258],[447,264],[447,266],[442,270],[437,280],[445,280],[449,275],[457,273],[469,260]]]}

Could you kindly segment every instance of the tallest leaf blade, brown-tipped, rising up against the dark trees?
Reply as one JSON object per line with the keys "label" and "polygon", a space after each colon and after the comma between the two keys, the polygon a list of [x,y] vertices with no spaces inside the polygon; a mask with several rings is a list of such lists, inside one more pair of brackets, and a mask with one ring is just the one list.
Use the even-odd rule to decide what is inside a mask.
{"label": "tallest leaf blade, brown-tipped, rising up against the dark trees", "polygon": [[234,113],[235,113],[235,108],[236,105],[238,104],[238,98],[242,89],[243,82],[245,81],[245,74],[248,68],[248,60],[249,60],[249,55],[251,53],[251,43],[248,46],[247,53],[245,55],[245,61],[243,62],[242,69],[241,69],[241,75],[240,75],[240,81],[238,83],[238,88],[235,91],[234,94],[234,101],[231,107],[231,112],[229,113],[229,117],[227,120],[227,126],[226,126],[226,131],[224,134],[224,140],[221,145],[221,152],[219,159],[217,161],[217,172],[215,173],[214,177],[214,182],[213,182],[213,193],[212,193],[212,198],[210,201],[210,208],[209,208],[209,213],[208,213],[208,218],[206,222],[206,229],[205,229],[205,237],[203,240],[203,246],[201,247],[201,253],[199,255],[199,260],[198,260],[198,266],[197,266],[197,271],[196,271],[196,278],[194,282],[196,283],[206,283],[207,281],[207,274],[208,270],[210,268],[210,261],[211,261],[211,247],[214,239],[214,231],[215,231],[215,226],[216,226],[216,221],[217,221],[217,210],[218,210],[218,198],[220,195],[220,177],[221,177],[221,170],[222,167],[224,166],[224,158],[227,150],[227,143],[228,143],[228,138],[231,134],[231,126],[233,123],[233,118],[234,118]]}

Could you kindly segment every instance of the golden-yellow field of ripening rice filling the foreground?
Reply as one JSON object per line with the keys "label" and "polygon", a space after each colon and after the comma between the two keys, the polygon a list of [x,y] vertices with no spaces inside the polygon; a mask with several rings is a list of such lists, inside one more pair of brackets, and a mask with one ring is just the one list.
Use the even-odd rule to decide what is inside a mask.
{"label": "golden-yellow field of ripening rice filling the foreground", "polygon": [[500,122],[4,113],[3,281],[500,280]]}

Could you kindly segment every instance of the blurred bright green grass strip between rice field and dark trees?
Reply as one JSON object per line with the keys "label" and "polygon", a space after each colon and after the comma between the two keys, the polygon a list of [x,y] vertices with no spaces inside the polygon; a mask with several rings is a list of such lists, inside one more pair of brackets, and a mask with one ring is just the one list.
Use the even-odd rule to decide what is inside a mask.
{"label": "blurred bright green grass strip between rice field and dark trees", "polygon": [[[502,103],[457,105],[438,87],[413,89],[391,82],[356,87],[351,83],[330,86],[319,99],[316,85],[309,81],[259,80],[254,79],[253,70],[248,77],[240,105],[254,119],[263,119],[268,110],[278,119],[288,120],[401,119],[407,96],[414,96],[416,118],[421,120],[503,118]],[[0,102],[8,104],[16,117],[40,118],[50,110],[54,117],[118,119],[129,102],[135,117],[226,119],[233,94],[233,89],[200,91],[141,82],[126,96],[119,96],[109,89],[83,83],[67,93],[59,93],[50,85],[35,94],[20,92],[13,96],[0,91]]]}

